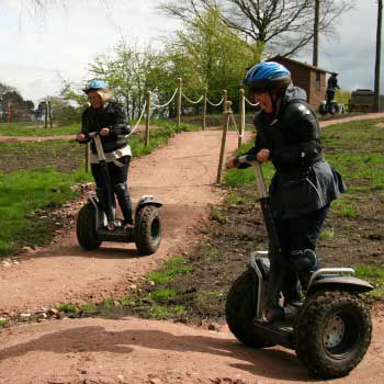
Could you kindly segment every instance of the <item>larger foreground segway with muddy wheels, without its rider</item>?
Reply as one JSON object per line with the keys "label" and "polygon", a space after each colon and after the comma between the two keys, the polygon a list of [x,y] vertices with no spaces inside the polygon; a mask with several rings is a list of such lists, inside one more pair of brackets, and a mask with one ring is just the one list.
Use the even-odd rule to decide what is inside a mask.
{"label": "larger foreground segway with muddy wheels, without its rider", "polygon": [[[280,345],[296,351],[315,375],[341,377],[353,370],[371,342],[371,316],[360,294],[373,287],[353,276],[352,268],[321,268],[310,275],[305,298],[284,303],[279,280],[279,239],[263,174],[255,155],[250,163],[270,240],[269,251],[250,256],[248,269],[234,282],[226,301],[226,319],[238,340],[255,348]],[[283,319],[269,321],[267,308],[280,306]]]}

